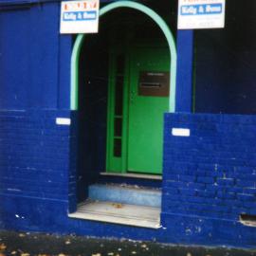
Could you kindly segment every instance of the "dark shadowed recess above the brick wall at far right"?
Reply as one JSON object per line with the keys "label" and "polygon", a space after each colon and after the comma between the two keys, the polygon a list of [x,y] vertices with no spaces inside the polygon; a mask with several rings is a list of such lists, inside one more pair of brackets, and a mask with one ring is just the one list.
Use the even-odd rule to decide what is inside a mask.
{"label": "dark shadowed recess above the brick wall at far right", "polygon": [[227,0],[224,29],[195,31],[195,112],[256,113],[255,8]]}

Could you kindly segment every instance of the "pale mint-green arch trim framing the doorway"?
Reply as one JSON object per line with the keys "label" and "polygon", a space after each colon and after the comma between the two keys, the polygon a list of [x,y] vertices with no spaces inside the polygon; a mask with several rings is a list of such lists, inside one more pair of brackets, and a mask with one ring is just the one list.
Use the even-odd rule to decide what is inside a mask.
{"label": "pale mint-green arch trim framing the doorway", "polygon": [[[166,40],[168,42],[168,46],[171,52],[171,67],[170,67],[170,99],[169,99],[169,111],[175,112],[175,92],[176,92],[176,47],[174,43],[174,36],[165,23],[165,21],[153,10],[145,7],[144,5],[138,4],[132,1],[118,1],[112,4],[109,4],[102,9],[100,9],[100,16],[105,13],[118,8],[130,8],[137,9],[149,17],[151,17],[158,27],[161,28],[164,33]],[[78,93],[79,93],[79,57],[82,47],[82,42],[84,40],[85,34],[78,35],[75,44],[73,46],[72,56],[71,56],[71,87],[70,87],[70,109],[77,110],[78,109]]]}

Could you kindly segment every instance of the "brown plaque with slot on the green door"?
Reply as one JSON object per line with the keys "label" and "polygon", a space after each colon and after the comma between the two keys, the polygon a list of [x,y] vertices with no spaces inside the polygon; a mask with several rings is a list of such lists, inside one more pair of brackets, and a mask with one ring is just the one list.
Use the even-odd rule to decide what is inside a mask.
{"label": "brown plaque with slot on the green door", "polygon": [[138,95],[168,97],[169,85],[169,72],[141,71],[139,73]]}

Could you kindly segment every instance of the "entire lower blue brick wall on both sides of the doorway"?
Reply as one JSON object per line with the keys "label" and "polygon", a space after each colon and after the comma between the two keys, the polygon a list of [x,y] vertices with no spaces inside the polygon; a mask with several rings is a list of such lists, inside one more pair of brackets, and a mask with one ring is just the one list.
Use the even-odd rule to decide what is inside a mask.
{"label": "entire lower blue brick wall on both sides of the doorway", "polygon": [[[57,125],[70,118],[71,125]],[[0,111],[0,229],[255,247],[253,116],[166,114],[160,229],[70,219],[77,204],[77,113]],[[173,128],[191,137],[172,136]]]}

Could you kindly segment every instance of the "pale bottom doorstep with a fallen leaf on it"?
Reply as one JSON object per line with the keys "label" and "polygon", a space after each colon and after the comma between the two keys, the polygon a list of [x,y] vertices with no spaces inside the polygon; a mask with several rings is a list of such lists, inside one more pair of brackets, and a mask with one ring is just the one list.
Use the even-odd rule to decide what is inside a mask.
{"label": "pale bottom doorstep with a fallen leaf on it", "polygon": [[160,208],[86,200],[70,218],[100,221],[141,228],[160,228]]}

